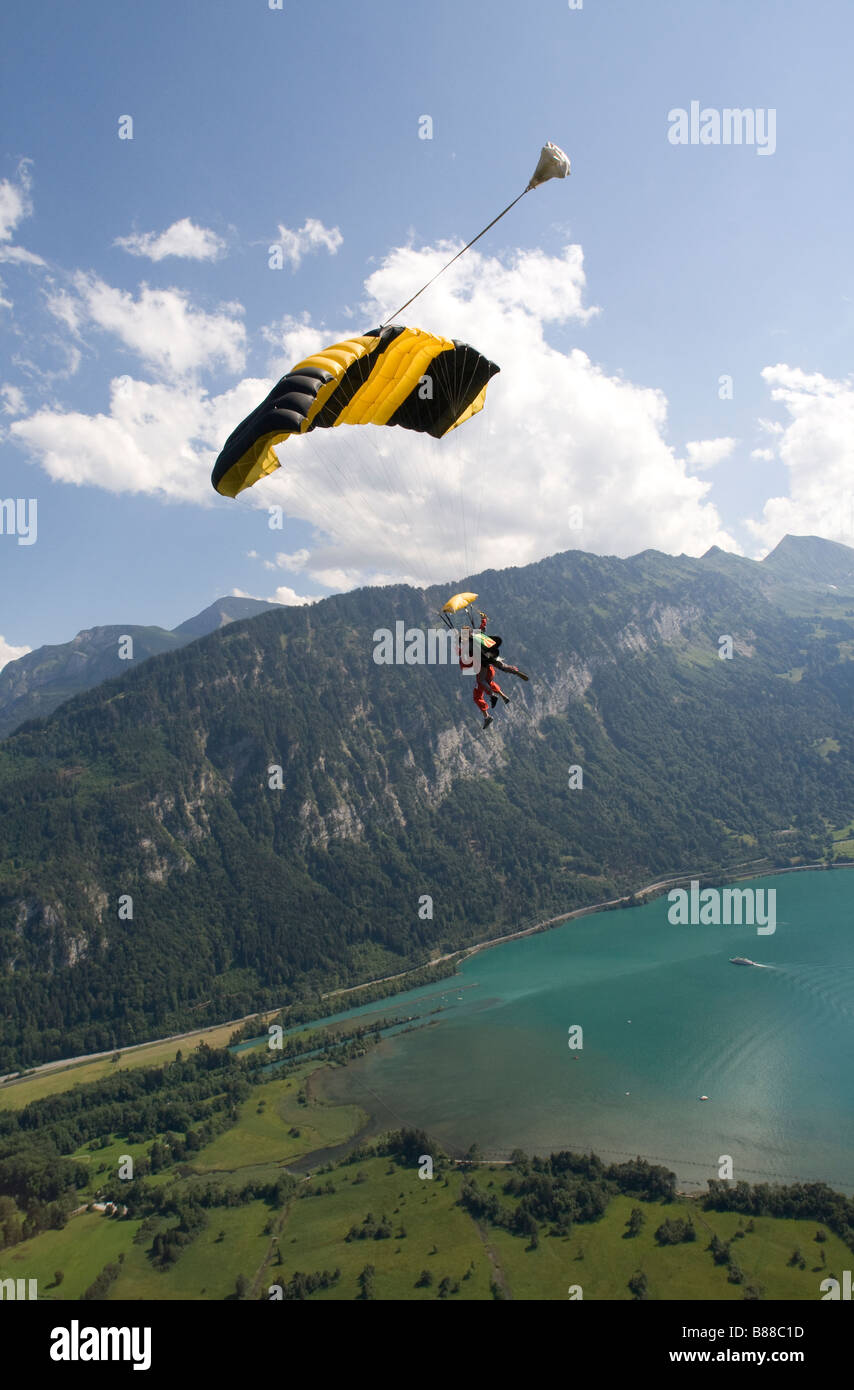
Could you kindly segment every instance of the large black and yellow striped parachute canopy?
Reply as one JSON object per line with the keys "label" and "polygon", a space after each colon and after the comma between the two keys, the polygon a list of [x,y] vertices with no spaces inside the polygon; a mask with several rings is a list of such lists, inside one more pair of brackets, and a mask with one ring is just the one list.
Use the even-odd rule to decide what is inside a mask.
{"label": "large black and yellow striped parachute canopy", "polygon": [[483,409],[499,371],[477,349],[420,328],[374,328],[292,367],[228,436],[211,482],[236,498],[280,467],[275,445],[332,425],[402,425],[440,439]]}

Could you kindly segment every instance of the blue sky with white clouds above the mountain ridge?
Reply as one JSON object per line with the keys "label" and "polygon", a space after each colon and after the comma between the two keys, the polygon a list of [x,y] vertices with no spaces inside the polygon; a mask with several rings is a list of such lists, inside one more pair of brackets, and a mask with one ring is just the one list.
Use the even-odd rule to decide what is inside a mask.
{"label": "blue sky with white clouds above the mountain ridge", "polygon": [[[854,543],[844,0],[83,0],[1,24],[0,499],[38,499],[38,539],[0,535],[0,662],[231,591],[298,600],[569,548],[762,555],[786,531]],[[691,101],[773,110],[773,154],[670,143]],[[501,363],[484,417],[445,455],[334,431],[305,460],[285,446],[263,496],[210,493],[275,375],[394,309],[548,139],[572,178],[406,314]],[[330,446],[345,488],[366,480],[338,516]],[[421,492],[448,459],[456,484]]]}

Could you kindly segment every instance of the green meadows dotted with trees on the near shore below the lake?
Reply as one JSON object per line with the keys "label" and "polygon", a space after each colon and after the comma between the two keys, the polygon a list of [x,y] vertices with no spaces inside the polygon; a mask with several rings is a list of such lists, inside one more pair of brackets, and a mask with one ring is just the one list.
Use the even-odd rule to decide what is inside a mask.
{"label": "green meadows dotted with trees on the near shore below the lake", "polygon": [[[163,1062],[171,1062],[174,1044],[168,1049],[161,1045],[161,1054]],[[305,1061],[271,1080],[255,1081],[248,1098],[236,1104],[236,1119],[228,1129],[184,1162],[147,1177],[147,1187],[159,1188],[170,1205],[147,1219],[140,1243],[134,1241],[139,1218],[122,1220],[85,1211],[61,1230],[45,1230],[0,1252],[0,1277],[36,1277],[40,1298],[76,1300],[106,1265],[118,1264],[110,1300],[225,1300],[236,1295],[238,1280],[242,1295],[257,1300],[296,1273],[339,1270],[331,1287],[310,1297],[351,1301],[363,1297],[359,1276],[373,1266],[370,1293],[377,1300],[437,1298],[441,1290],[442,1297],[467,1301],[551,1301],[566,1300],[576,1286],[586,1300],[631,1298],[629,1280],[641,1270],[651,1300],[732,1301],[741,1300],[750,1284],[761,1286],[768,1300],[816,1300],[822,1279],[850,1268],[851,1254],[837,1236],[828,1232],[825,1241],[815,1240],[815,1220],[755,1216],[747,1229],[747,1218],[707,1212],[698,1200],[687,1198],[645,1202],[613,1195],[601,1219],[573,1225],[569,1236],[549,1234],[548,1223],[541,1222],[537,1241],[531,1241],[505,1226],[476,1220],[459,1205],[470,1176],[460,1168],[438,1166],[435,1176],[424,1180],[413,1163],[373,1152],[353,1162],[327,1163],[312,1177],[292,1175],[282,1197],[273,1188],[288,1163],[345,1144],[366,1122],[357,1106],[314,1098],[312,1079],[323,1066],[319,1059]],[[67,1090],[68,1074],[46,1074],[40,1087]],[[81,1205],[115,1175],[120,1155],[142,1158],[152,1145],[150,1138],[134,1144],[120,1134],[107,1138],[103,1148],[92,1147],[95,1140],[74,1155],[89,1173],[78,1193]],[[485,1197],[498,1197],[499,1209],[513,1215],[517,1198],[503,1193],[510,1176],[506,1165],[483,1163],[473,1176]],[[203,1229],[160,1269],[154,1240],[195,1229],[192,1216],[189,1226],[179,1226],[181,1212],[198,1208],[192,1200],[196,1190],[209,1204],[211,1182],[223,1205],[204,1205]],[[241,1188],[248,1183],[253,1187],[243,1195]],[[261,1184],[270,1187],[266,1200]],[[634,1207],[643,1211],[644,1223],[627,1238]],[[351,1229],[362,1227],[369,1215],[376,1225],[387,1219],[391,1234],[348,1241]],[[672,1218],[690,1218],[697,1240],[658,1245],[655,1230]],[[166,1237],[167,1232],[172,1236]],[[708,1248],[712,1236],[730,1243],[744,1283],[729,1282],[727,1266],[715,1265]],[[801,1261],[791,1262],[796,1248],[803,1269]],[[64,1273],[58,1286],[56,1270]]]}

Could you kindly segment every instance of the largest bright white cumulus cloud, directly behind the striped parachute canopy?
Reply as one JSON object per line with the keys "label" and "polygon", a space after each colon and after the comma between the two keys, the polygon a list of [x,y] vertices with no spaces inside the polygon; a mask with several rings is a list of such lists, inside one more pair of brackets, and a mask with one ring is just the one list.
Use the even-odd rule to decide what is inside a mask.
{"label": "largest bright white cumulus cloud, directly behind the striped parachute canopy", "polygon": [[[381,321],[455,249],[392,252],[367,281],[362,322]],[[410,314],[501,364],[487,409],[440,441],[342,428],[282,445],[264,505],[313,524],[312,578],[332,588],[433,582],[567,548],[739,549],[707,500],[709,484],[666,443],[663,395],[548,341],[554,325],[580,332],[598,311],[584,291],[579,246],[508,260],[470,252],[437,281]],[[284,321],[274,374],[332,336]]]}

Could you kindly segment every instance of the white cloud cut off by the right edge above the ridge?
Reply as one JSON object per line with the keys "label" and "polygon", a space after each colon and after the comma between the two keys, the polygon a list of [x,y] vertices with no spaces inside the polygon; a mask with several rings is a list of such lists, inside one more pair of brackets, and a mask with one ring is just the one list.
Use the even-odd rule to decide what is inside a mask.
{"label": "white cloud cut off by the right edge above the ridge", "polygon": [[823,535],[854,545],[854,379],[778,363],[762,377],[787,413],[772,424],[778,457],[789,470],[789,496],[769,498],[747,523],[766,548],[783,535]]}

